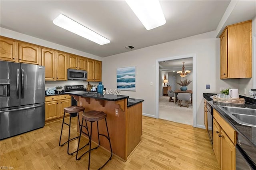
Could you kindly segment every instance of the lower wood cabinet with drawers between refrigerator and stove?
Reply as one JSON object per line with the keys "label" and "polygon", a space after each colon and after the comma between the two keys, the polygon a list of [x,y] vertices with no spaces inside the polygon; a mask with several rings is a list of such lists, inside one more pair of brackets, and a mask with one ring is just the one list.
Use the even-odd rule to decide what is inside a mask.
{"label": "lower wood cabinet with drawers between refrigerator and stove", "polygon": [[70,95],[56,95],[45,97],[45,122],[61,119],[64,108],[71,106]]}

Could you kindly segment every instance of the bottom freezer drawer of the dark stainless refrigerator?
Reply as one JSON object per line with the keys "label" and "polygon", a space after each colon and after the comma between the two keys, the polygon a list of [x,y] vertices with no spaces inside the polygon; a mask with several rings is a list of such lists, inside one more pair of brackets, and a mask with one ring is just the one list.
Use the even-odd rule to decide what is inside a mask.
{"label": "bottom freezer drawer of the dark stainless refrigerator", "polygon": [[44,127],[44,103],[0,111],[0,139]]}

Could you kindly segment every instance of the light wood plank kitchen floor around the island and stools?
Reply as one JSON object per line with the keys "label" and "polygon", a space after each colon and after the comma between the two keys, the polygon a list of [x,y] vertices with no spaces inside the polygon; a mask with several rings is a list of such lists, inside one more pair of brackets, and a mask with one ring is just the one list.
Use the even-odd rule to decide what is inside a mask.
{"label": "light wood plank kitchen floor around the island and stools", "polygon": [[[76,118],[71,134],[76,135]],[[143,117],[142,142],[126,161],[116,156],[106,170],[219,170],[206,130],[190,125]],[[0,166],[15,170],[82,170],[88,167],[88,154],[76,161],[68,155],[67,145],[59,147],[62,121],[48,123],[33,130],[0,141]],[[64,127],[64,135],[68,127]],[[86,140],[86,139],[84,139]],[[70,149],[74,150],[77,141]],[[102,148],[92,151],[91,169],[97,169],[110,154]]]}

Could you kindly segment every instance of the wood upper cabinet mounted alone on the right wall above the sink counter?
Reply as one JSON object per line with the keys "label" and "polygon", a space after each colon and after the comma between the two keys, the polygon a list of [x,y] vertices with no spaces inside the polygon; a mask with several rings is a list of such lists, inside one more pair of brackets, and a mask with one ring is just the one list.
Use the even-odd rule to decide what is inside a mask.
{"label": "wood upper cabinet mounted alone on the right wall above the sink counter", "polygon": [[230,25],[220,35],[220,79],[252,77],[252,20]]}

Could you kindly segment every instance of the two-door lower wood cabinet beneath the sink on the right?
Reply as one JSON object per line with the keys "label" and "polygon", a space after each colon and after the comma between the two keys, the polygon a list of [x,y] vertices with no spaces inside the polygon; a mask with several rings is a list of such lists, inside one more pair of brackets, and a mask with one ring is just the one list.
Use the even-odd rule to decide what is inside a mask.
{"label": "two-door lower wood cabinet beneath the sink on the right", "polygon": [[236,170],[237,132],[213,111],[213,150],[222,170]]}

